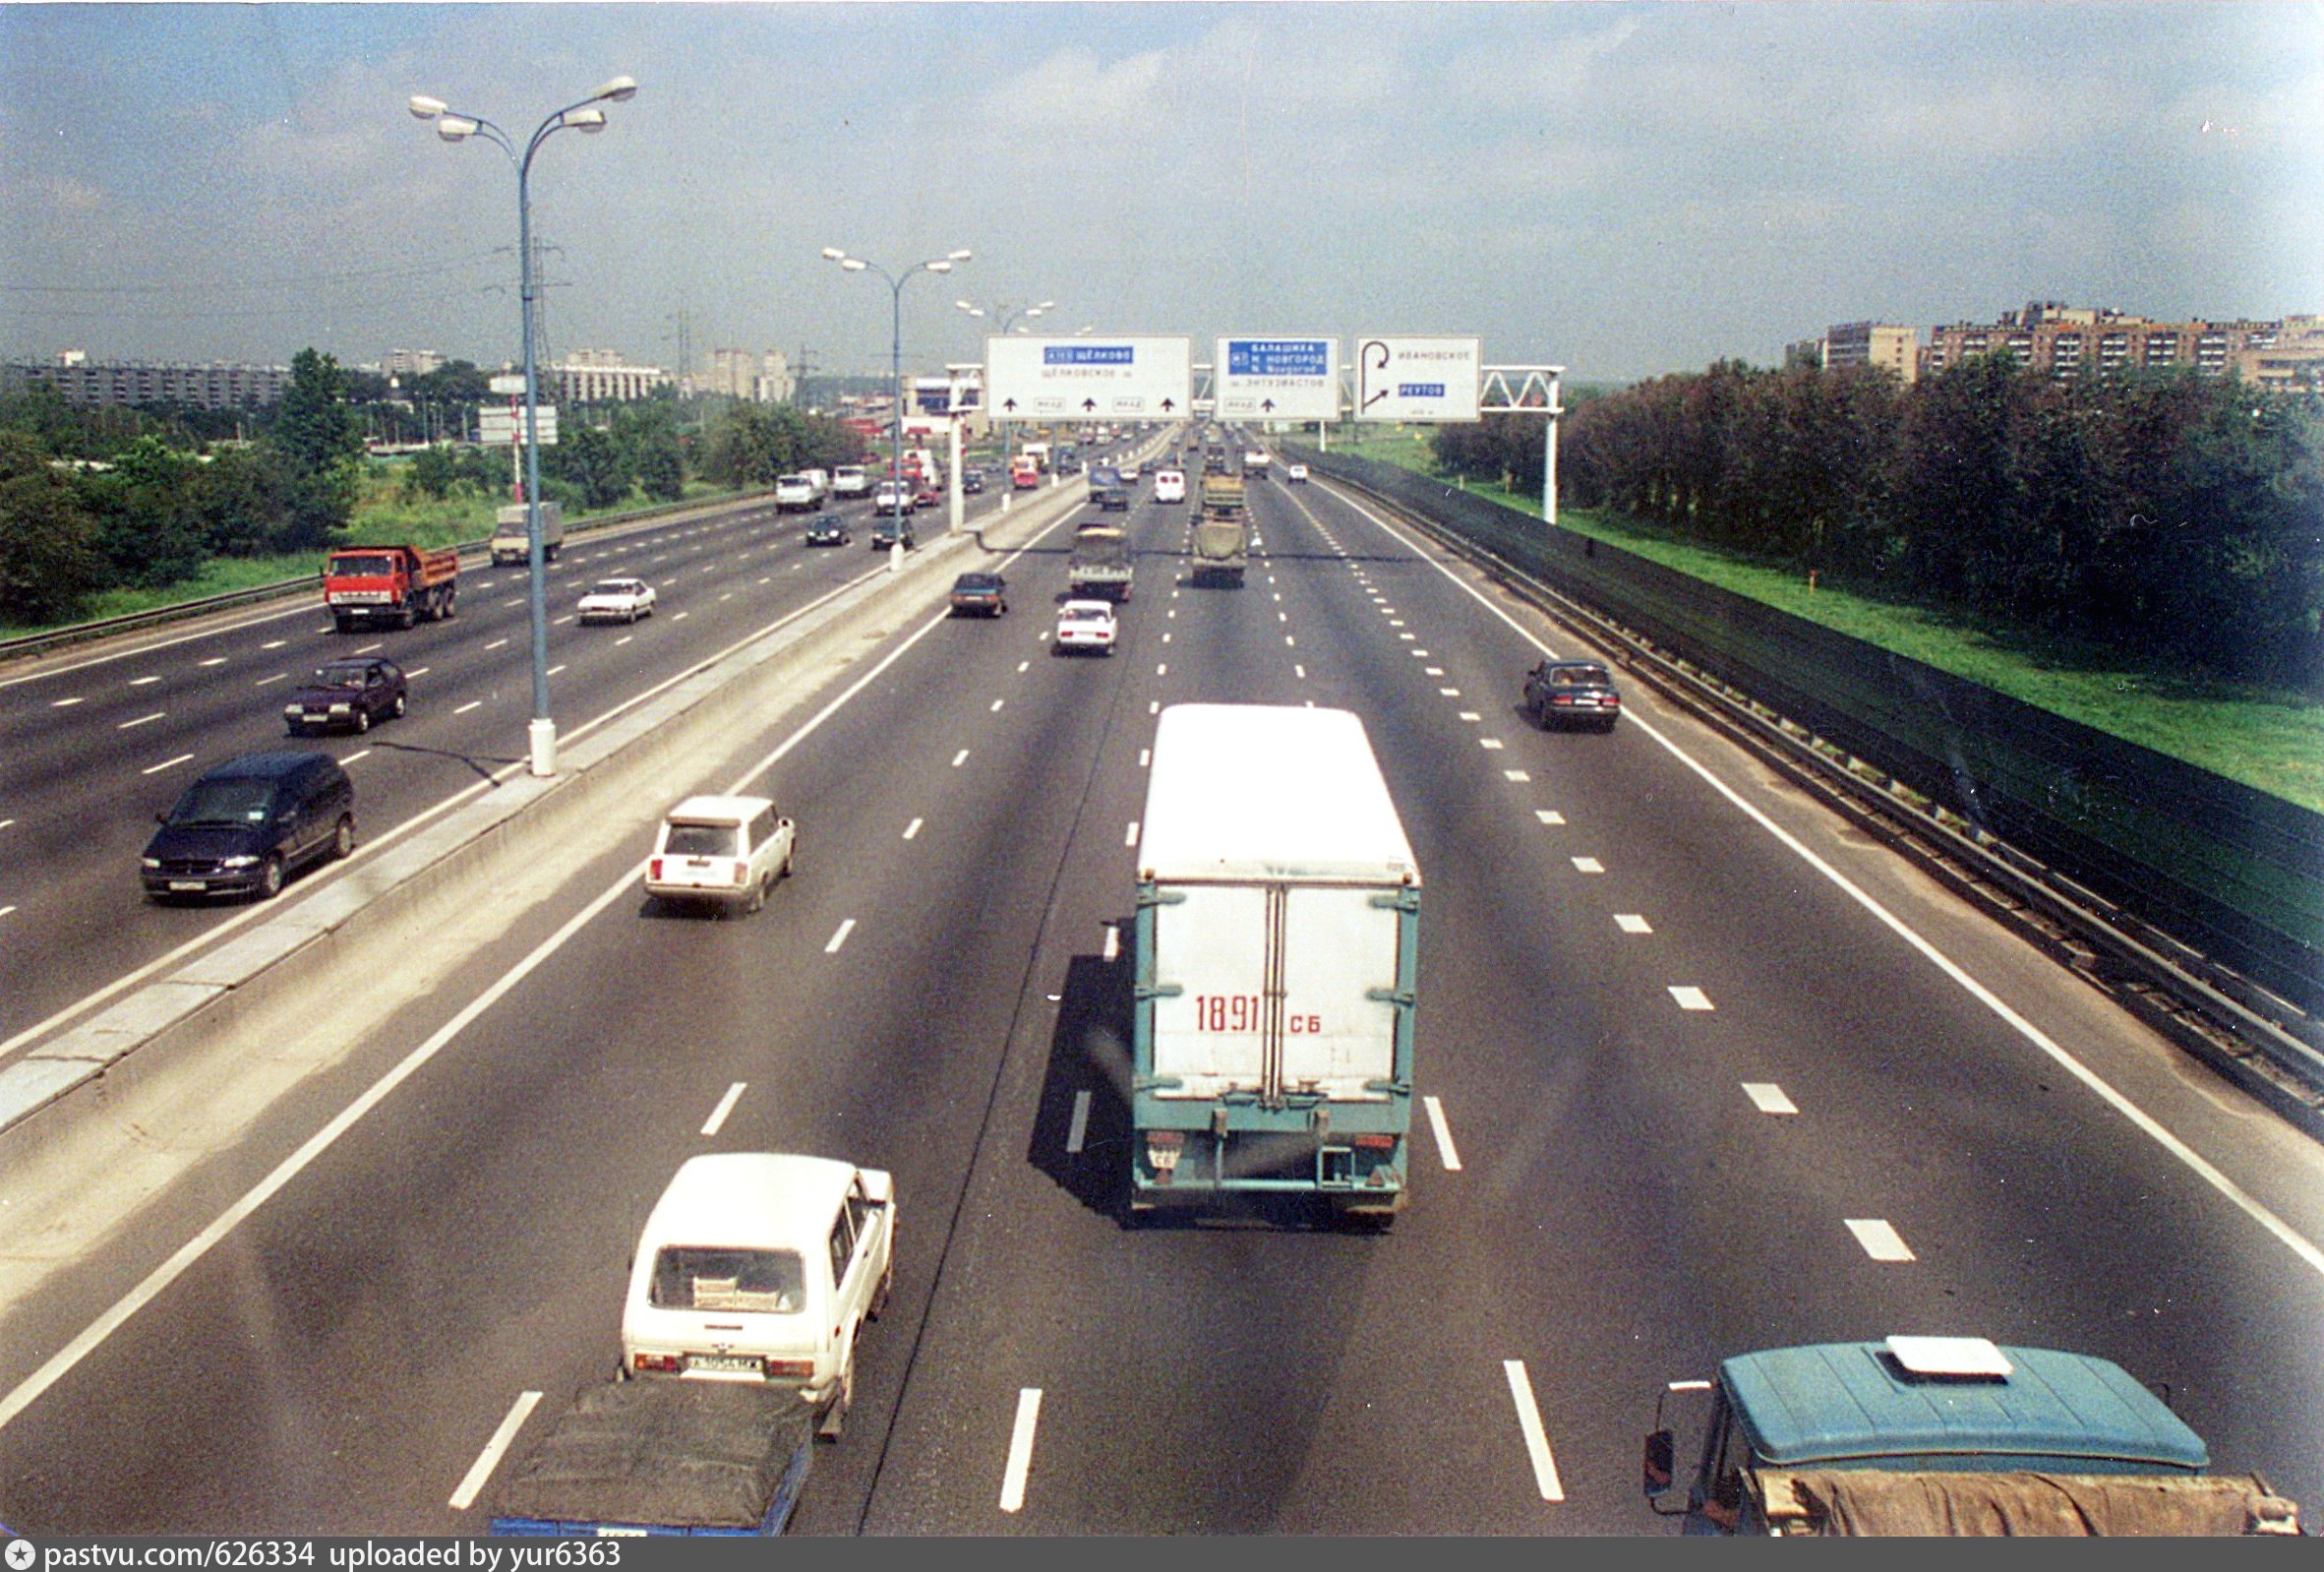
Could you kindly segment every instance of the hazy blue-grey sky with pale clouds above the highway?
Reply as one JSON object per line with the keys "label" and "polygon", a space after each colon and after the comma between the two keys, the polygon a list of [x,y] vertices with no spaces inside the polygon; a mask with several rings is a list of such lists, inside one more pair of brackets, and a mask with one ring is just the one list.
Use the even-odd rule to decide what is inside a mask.
{"label": "hazy blue-grey sky with pale clouds above the highway", "polygon": [[0,5],[0,358],[1476,333],[1624,381],[2029,300],[2324,312],[2324,7]]}

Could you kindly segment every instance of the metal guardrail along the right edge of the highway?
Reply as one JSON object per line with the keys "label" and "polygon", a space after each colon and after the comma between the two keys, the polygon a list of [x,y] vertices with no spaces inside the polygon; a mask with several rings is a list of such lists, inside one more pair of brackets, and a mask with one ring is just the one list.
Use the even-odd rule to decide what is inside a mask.
{"label": "metal guardrail along the right edge of the highway", "polygon": [[[2108,988],[2133,1014],[2310,1132],[2324,1135],[2324,1051],[2312,1042],[2317,1032],[2312,1016],[2273,993],[2252,988],[2240,974],[2096,895],[2071,872],[1975,828],[1880,765],[1787,719],[1727,674],[1706,670],[1655,635],[1624,626],[1618,616],[1548,584],[1457,523],[1432,516],[1432,509],[1415,505],[1413,498],[1364,484],[1367,477],[1355,474],[1353,465],[1343,467],[1341,458],[1313,453],[1308,463],[1411,519],[1522,598],[1622,651],[1624,667],[1783,765],[1794,779],[1822,788],[1868,833],[1968,893],[2027,939]],[[1448,495],[1459,493],[1448,491]],[[1462,500],[1508,514],[1483,498]]]}

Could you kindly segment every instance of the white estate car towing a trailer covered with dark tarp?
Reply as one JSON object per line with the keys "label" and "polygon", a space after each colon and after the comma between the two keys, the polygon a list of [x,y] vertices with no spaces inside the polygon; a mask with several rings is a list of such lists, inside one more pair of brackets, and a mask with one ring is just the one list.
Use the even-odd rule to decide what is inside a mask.
{"label": "white estate car towing a trailer covered with dark tarp", "polygon": [[688,1158],[653,1202],[621,1309],[632,1377],[792,1386],[837,1435],[855,1337],[895,1284],[895,1179],[832,1158]]}

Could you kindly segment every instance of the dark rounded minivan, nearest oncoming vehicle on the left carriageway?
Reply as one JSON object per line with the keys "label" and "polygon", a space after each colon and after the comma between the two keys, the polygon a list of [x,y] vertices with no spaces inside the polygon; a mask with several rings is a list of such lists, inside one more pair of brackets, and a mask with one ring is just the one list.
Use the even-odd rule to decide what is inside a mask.
{"label": "dark rounded minivan, nearest oncoming vehicle on the left carriageway", "polygon": [[330,753],[244,753],[186,788],[137,858],[146,898],[274,895],[356,849],[356,784]]}

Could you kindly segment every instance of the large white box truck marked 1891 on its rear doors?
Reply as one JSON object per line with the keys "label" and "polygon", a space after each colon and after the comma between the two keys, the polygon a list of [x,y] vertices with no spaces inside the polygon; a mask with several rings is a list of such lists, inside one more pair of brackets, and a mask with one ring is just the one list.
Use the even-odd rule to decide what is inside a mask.
{"label": "large white box truck marked 1891 on its rear doors", "polygon": [[1129,1207],[1278,1193],[1392,1219],[1420,865],[1346,709],[1171,705],[1139,830]]}

